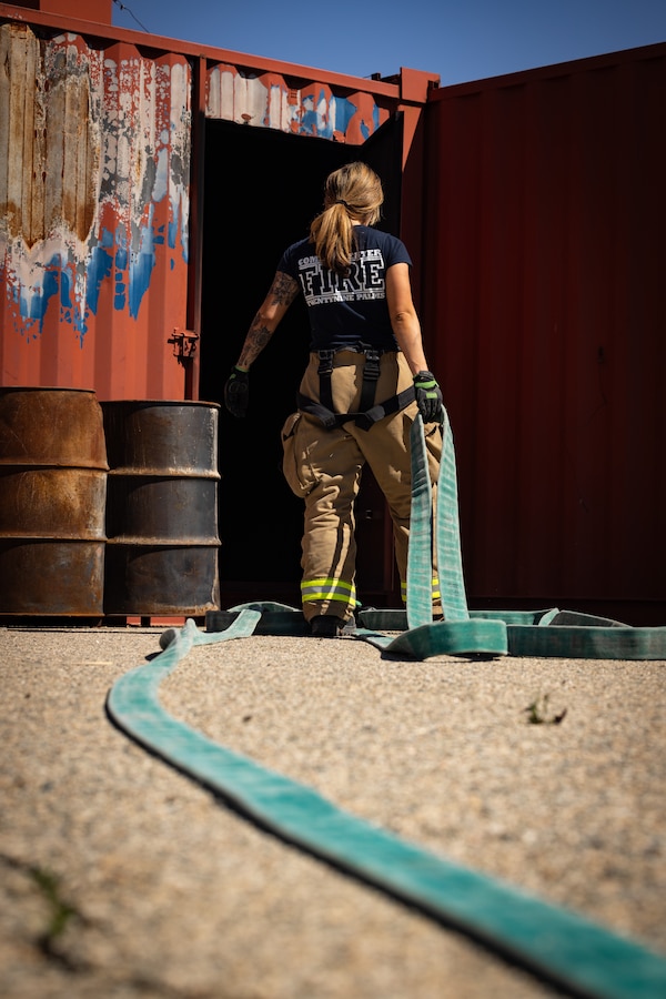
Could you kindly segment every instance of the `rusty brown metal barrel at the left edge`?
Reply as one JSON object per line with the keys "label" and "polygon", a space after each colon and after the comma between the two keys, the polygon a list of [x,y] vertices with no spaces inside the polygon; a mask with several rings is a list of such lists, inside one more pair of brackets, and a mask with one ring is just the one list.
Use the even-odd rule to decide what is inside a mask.
{"label": "rusty brown metal barrel at the left edge", "polygon": [[0,389],[0,615],[101,617],[107,451],[80,389]]}

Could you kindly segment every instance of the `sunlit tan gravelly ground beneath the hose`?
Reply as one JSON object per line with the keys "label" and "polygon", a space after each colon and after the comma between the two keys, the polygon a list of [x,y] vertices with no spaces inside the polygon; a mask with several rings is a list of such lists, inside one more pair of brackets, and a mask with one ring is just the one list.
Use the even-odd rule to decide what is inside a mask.
{"label": "sunlit tan gravelly ground beneath the hose", "polygon": [[[0,628],[6,999],[558,995],[119,731],[108,692],[160,633]],[[343,808],[666,955],[666,662],[414,664],[256,636],[196,647],[161,698]]]}

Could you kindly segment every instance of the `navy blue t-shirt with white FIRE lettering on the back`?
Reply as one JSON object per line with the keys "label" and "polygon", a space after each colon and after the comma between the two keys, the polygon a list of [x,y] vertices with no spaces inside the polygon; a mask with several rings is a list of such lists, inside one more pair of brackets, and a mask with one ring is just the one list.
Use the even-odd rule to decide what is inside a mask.
{"label": "navy blue t-shirt with white FIRE lettering on the back", "polygon": [[324,268],[309,239],[291,245],[278,264],[279,271],[301,285],[313,351],[360,343],[397,350],[386,302],[386,271],[396,263],[411,265],[410,254],[401,240],[367,225],[355,225],[354,236],[346,278]]}

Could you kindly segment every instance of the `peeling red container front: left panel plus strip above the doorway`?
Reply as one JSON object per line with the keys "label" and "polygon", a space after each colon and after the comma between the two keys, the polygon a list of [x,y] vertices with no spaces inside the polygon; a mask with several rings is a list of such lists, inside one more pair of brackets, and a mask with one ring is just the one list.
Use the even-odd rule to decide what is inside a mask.
{"label": "peeling red container front: left panel plus strip above the doorway", "polygon": [[195,396],[204,120],[362,143],[398,88],[57,7],[0,4],[2,382]]}

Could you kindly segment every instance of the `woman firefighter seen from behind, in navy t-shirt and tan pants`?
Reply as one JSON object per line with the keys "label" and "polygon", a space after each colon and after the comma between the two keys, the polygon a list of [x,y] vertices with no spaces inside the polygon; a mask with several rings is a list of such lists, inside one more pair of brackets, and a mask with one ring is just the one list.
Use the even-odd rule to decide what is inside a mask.
{"label": "woman firefighter seen from behind, in navy t-shirt and tan pants", "polygon": [[[283,471],[305,501],[301,595],[304,617],[320,637],[340,635],[356,606],[354,504],[364,464],[389,504],[404,598],[408,442],[417,412],[433,485],[442,454],[442,393],[423,350],[412,262],[398,239],[373,228],[383,200],[381,180],[365,163],[330,174],[324,209],[310,235],[282,255],[224,386],[226,408],[244,416],[250,367],[302,293],[311,353],[297,412],[282,430]],[[434,566],[433,613],[441,615]]]}

